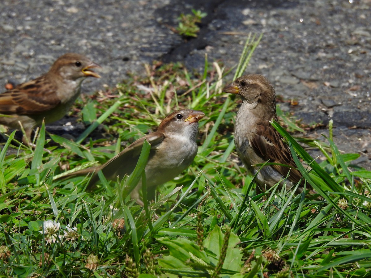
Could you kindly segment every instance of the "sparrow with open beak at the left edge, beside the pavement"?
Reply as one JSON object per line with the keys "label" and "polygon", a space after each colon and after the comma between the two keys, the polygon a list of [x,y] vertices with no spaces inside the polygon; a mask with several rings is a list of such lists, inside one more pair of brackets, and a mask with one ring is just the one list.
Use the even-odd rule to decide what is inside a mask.
{"label": "sparrow with open beak at the left edge, beside the pavement", "polygon": [[45,75],[0,94],[0,124],[14,129],[22,125],[23,142],[28,145],[32,130],[43,119],[52,123],[66,115],[86,77],[100,77],[91,70],[96,67],[100,66],[80,54],[60,56]]}

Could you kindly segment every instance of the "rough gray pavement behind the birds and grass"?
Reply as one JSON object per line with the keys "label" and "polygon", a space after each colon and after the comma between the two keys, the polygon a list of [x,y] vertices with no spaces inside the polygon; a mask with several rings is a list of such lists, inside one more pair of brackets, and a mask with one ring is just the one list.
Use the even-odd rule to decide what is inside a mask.
{"label": "rough gray pavement behind the birds and grass", "polygon": [[[185,41],[169,26],[191,9],[207,17]],[[202,72],[207,53],[232,67],[249,32],[263,33],[246,73],[297,99],[280,107],[303,122],[333,119],[339,149],[361,153],[357,163],[370,169],[371,0],[1,0],[0,14],[1,88],[40,76],[66,52],[104,67],[83,92],[115,86],[128,71],[143,74],[154,59]]]}

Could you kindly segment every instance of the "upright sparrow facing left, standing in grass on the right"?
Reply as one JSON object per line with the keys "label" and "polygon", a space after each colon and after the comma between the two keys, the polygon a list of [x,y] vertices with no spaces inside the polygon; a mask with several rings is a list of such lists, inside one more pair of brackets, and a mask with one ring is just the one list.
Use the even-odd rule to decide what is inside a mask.
{"label": "upright sparrow facing left, standing in grass on the right", "polygon": [[[224,87],[223,92],[237,94],[242,99],[234,125],[234,143],[247,170],[255,175],[260,166],[254,165],[267,161],[288,165],[264,166],[256,177],[260,190],[280,181],[281,186],[286,184],[289,190],[302,175],[296,169],[289,146],[269,122],[272,119],[278,121],[273,85],[262,75],[244,75]],[[286,176],[288,181],[283,180]],[[299,186],[299,191],[302,190],[303,181]]]}

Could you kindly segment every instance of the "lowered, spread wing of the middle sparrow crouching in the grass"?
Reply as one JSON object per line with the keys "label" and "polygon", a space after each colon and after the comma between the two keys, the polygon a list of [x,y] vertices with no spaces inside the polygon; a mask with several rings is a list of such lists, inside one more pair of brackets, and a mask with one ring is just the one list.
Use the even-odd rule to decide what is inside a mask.
{"label": "lowered, spread wing of the middle sparrow crouching in the grass", "polygon": [[[101,166],[100,169],[102,170],[105,178],[115,181],[116,176],[119,176],[119,178],[122,179],[124,175],[130,175],[137,165],[144,140],[147,140],[148,143],[151,144],[150,157],[148,158],[151,159],[155,153],[156,146],[161,143],[164,138],[165,136],[163,133],[154,132],[129,145],[126,149]],[[88,188],[98,181],[98,175],[95,174],[89,182]]]}

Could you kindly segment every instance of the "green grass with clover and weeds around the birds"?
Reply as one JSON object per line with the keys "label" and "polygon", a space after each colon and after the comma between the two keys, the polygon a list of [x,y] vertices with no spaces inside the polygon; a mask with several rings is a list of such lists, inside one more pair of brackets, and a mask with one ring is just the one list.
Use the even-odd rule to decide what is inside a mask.
{"label": "green grass with clover and weeds around the birds", "polygon": [[[259,39],[249,38],[236,76]],[[323,200],[296,195],[297,186],[256,193],[233,149],[240,100],[221,93],[231,81],[224,74],[207,59],[205,71],[193,74],[181,64],[154,63],[148,77],[132,76],[80,100],[77,116],[86,131],[75,142],[42,126],[35,150],[18,148],[11,133],[0,153],[1,277],[367,277],[371,172],[352,171],[358,155],[340,153],[331,133],[326,146],[307,142],[327,158],[316,163],[286,132],[300,128],[282,114],[285,129],[272,125],[311,166],[308,173],[297,161]],[[104,163],[183,107],[206,113],[198,155],[144,208],[128,197],[140,165],[93,193],[85,192],[89,177],[57,179],[68,169]],[[93,132],[97,123],[104,125],[101,137]],[[6,155],[11,146],[18,151]]]}

